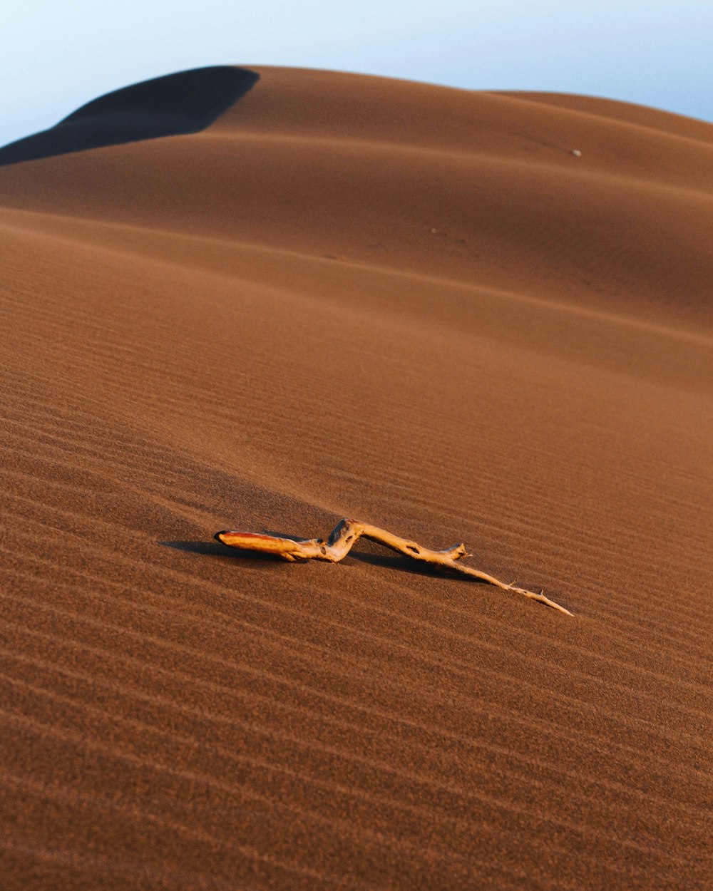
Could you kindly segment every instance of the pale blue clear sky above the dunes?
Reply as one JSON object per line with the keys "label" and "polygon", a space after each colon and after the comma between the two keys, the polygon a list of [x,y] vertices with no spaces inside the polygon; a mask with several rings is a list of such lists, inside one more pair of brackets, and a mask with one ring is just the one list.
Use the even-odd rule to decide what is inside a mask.
{"label": "pale blue clear sky above the dunes", "polygon": [[120,86],[289,65],[639,102],[713,121],[711,0],[2,0],[0,145]]}

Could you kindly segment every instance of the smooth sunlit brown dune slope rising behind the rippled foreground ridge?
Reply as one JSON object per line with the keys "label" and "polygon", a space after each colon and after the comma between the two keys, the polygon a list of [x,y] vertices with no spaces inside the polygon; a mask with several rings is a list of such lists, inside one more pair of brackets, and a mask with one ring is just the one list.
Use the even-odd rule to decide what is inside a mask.
{"label": "smooth sunlit brown dune slope rising behind the rippled foreground ridge", "polygon": [[200,134],[13,165],[0,198],[710,323],[713,141],[685,119],[257,70]]}

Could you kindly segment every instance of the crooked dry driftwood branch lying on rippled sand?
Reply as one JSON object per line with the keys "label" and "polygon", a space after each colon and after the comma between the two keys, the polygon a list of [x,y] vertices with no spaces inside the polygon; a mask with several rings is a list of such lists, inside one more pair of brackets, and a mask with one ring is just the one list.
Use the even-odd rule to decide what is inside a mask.
{"label": "crooked dry driftwood branch lying on rippled sand", "polygon": [[473,569],[470,566],[464,566],[459,562],[463,557],[470,557],[465,550],[463,544],[456,544],[446,551],[430,551],[428,548],[422,547],[420,544],[410,542],[406,538],[399,538],[397,535],[391,535],[384,529],[370,526],[368,523],[359,523],[355,519],[342,519],[336,527],[332,529],[329,538],[281,538],[278,535],[260,535],[256,532],[236,532],[224,529],[217,532],[214,536],[217,541],[228,544],[234,548],[243,548],[247,551],[259,551],[263,553],[275,554],[283,560],[329,560],[331,563],[339,563],[343,560],[356,540],[359,538],[368,538],[370,541],[383,544],[384,547],[390,548],[411,557],[413,560],[422,560],[424,563],[430,563],[432,566],[439,566],[461,573],[463,576],[471,576],[477,578],[481,582],[495,584],[496,587],[502,588],[504,591],[512,591],[521,594],[523,597],[529,597],[530,600],[544,603],[545,606],[559,609],[560,612],[571,616],[569,609],[564,609],[559,603],[549,600],[545,594],[525,591],[524,588],[518,588],[515,584],[505,584],[493,576],[488,576],[479,569]]}

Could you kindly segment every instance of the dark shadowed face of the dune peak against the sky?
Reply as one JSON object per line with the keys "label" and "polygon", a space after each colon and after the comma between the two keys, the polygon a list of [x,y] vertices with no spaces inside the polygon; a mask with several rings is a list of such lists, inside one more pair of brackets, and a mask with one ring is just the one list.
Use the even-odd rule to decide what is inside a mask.
{"label": "dark shadowed face of the dune peak against the sky", "polygon": [[125,86],[87,102],[59,124],[0,149],[0,166],[70,151],[198,133],[259,80],[228,65],[179,71]]}

